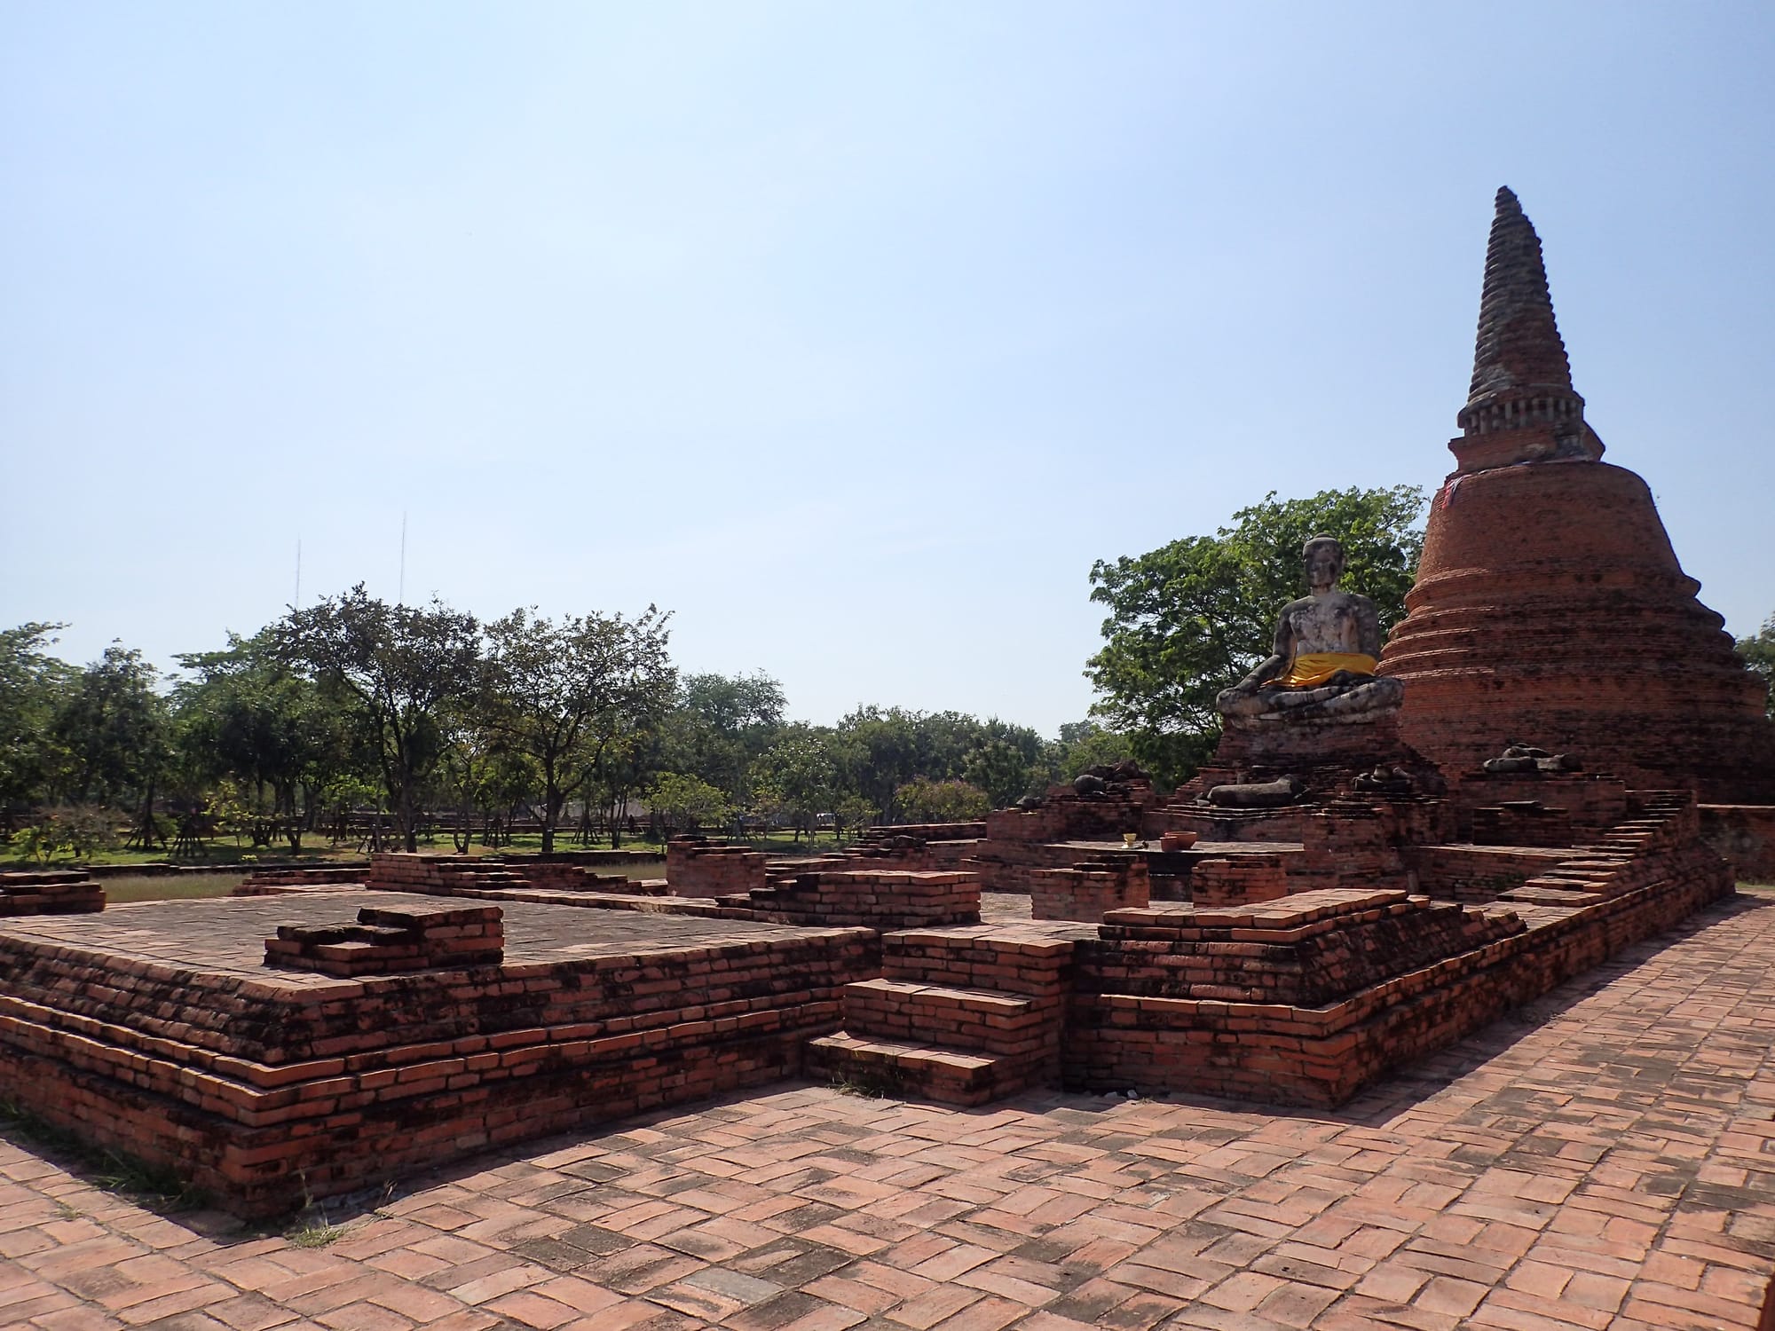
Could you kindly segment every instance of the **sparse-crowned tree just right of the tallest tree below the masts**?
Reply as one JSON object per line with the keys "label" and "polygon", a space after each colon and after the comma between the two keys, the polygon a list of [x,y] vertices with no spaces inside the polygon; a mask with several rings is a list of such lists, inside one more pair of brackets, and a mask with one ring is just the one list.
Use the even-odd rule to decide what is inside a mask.
{"label": "sparse-crowned tree just right of the tallest tree below the masts", "polygon": [[604,749],[648,728],[671,705],[676,674],[666,619],[513,610],[486,626],[488,719],[529,754],[543,781],[543,854],[554,850],[561,809],[591,781]]}

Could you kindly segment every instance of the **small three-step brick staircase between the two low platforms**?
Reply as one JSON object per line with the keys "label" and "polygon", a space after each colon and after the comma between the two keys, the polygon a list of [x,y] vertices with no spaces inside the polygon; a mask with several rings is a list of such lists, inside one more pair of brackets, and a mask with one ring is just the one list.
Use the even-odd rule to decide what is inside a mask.
{"label": "small three-step brick staircase between the two low platforms", "polygon": [[882,935],[882,976],[843,988],[845,1028],[808,1044],[834,1081],[980,1106],[1058,1084],[1072,955],[1090,925]]}

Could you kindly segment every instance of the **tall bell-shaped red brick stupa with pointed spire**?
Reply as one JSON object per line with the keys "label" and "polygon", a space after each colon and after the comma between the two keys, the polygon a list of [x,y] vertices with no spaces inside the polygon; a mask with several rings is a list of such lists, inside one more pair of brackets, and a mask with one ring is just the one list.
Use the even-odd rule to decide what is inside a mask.
{"label": "tall bell-shaped red brick stupa with pointed spire", "polygon": [[1541,240],[1509,190],[1457,424],[1409,614],[1381,655],[1406,683],[1406,742],[1456,779],[1514,742],[1635,786],[1775,800],[1763,683],[1695,600],[1645,481],[1601,461]]}

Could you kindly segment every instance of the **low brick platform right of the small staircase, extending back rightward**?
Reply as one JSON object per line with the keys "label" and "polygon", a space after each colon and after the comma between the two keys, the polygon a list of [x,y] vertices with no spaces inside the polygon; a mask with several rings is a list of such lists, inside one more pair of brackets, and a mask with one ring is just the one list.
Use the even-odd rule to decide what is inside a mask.
{"label": "low brick platform right of the small staircase, extending back rightward", "polygon": [[[1491,916],[1344,889],[1234,910],[1115,912],[1104,941],[1083,944],[1065,1079],[1342,1104],[1729,891],[1720,861],[1690,852],[1654,884],[1525,886],[1521,905]],[[1306,902],[1331,910],[1329,925],[1301,918]]]}

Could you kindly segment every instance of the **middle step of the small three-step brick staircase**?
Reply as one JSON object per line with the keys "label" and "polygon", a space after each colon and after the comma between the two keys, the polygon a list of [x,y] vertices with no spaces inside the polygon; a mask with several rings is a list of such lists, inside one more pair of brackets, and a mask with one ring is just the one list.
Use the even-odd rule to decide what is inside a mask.
{"label": "middle step of the small three-step brick staircase", "polygon": [[1021,994],[907,980],[859,980],[845,985],[843,1003],[854,1035],[1005,1056],[1058,1051],[1065,1012]]}

